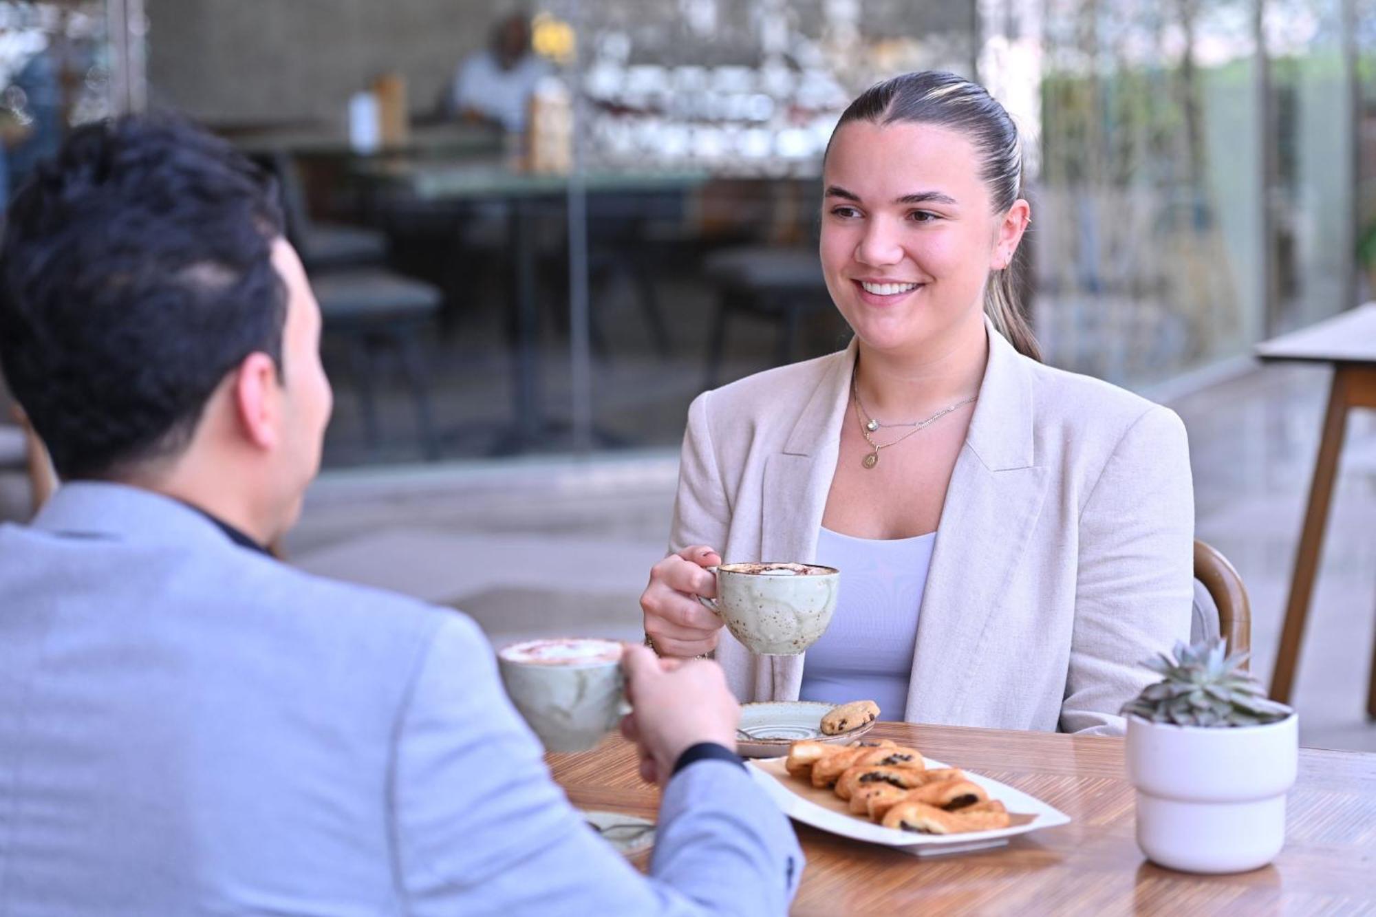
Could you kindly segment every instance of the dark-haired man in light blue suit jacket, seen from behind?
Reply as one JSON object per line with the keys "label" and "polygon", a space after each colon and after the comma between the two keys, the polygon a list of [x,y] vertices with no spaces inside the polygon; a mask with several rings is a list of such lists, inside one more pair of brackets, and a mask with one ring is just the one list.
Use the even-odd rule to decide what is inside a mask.
{"label": "dark-haired man in light blue suit jacket, seen from behind", "polygon": [[0,365],[66,481],[0,527],[0,914],[783,913],[801,854],[716,664],[627,649],[649,878],[550,781],[472,621],[305,576],[321,314],[257,171],[76,131],[0,251]]}

